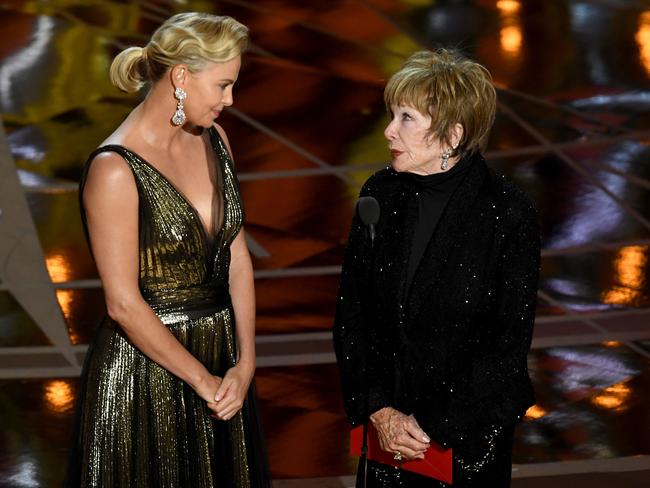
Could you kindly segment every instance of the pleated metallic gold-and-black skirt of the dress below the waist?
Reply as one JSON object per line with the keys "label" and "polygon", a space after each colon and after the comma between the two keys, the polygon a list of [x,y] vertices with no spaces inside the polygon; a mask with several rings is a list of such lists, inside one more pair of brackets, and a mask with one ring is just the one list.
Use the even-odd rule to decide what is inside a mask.
{"label": "pleated metallic gold-and-black skirt of the dress below the waist", "polygon": [[[212,374],[235,364],[231,308],[163,322]],[[192,388],[104,319],[84,364],[64,486],[270,485],[254,388],[230,420],[214,419]]]}

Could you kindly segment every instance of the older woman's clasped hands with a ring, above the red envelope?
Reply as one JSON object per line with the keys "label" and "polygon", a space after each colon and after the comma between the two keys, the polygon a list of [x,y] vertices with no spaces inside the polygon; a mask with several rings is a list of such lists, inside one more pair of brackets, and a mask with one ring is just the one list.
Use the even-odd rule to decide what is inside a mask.
{"label": "older woman's clasped hands with a ring, above the red envelope", "polygon": [[370,416],[377,429],[379,445],[384,451],[400,453],[405,459],[424,459],[431,439],[420,428],[415,417],[385,407]]}

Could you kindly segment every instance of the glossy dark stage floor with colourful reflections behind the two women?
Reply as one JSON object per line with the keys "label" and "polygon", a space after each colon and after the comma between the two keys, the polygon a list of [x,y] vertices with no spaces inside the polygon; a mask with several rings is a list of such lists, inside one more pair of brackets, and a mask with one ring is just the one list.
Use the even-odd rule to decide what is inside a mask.
{"label": "glossy dark stage floor with colourful reflections behind the two women", "polygon": [[439,45],[491,71],[499,110],[486,159],[542,220],[530,354],[538,400],[516,433],[513,486],[537,486],[544,474],[564,474],[558,488],[561,479],[599,486],[589,474],[598,471],[616,486],[642,486],[646,2],[5,0],[0,238],[11,245],[0,244],[0,487],[60,484],[79,367],[105,313],[78,178],[137,103],[110,86],[112,57],[180,9],[232,15],[251,29],[235,105],[219,122],[246,206],[257,386],[278,486],[344,486],[354,472],[331,347],[340,263],[359,188],[389,161],[385,81],[410,53]]}

